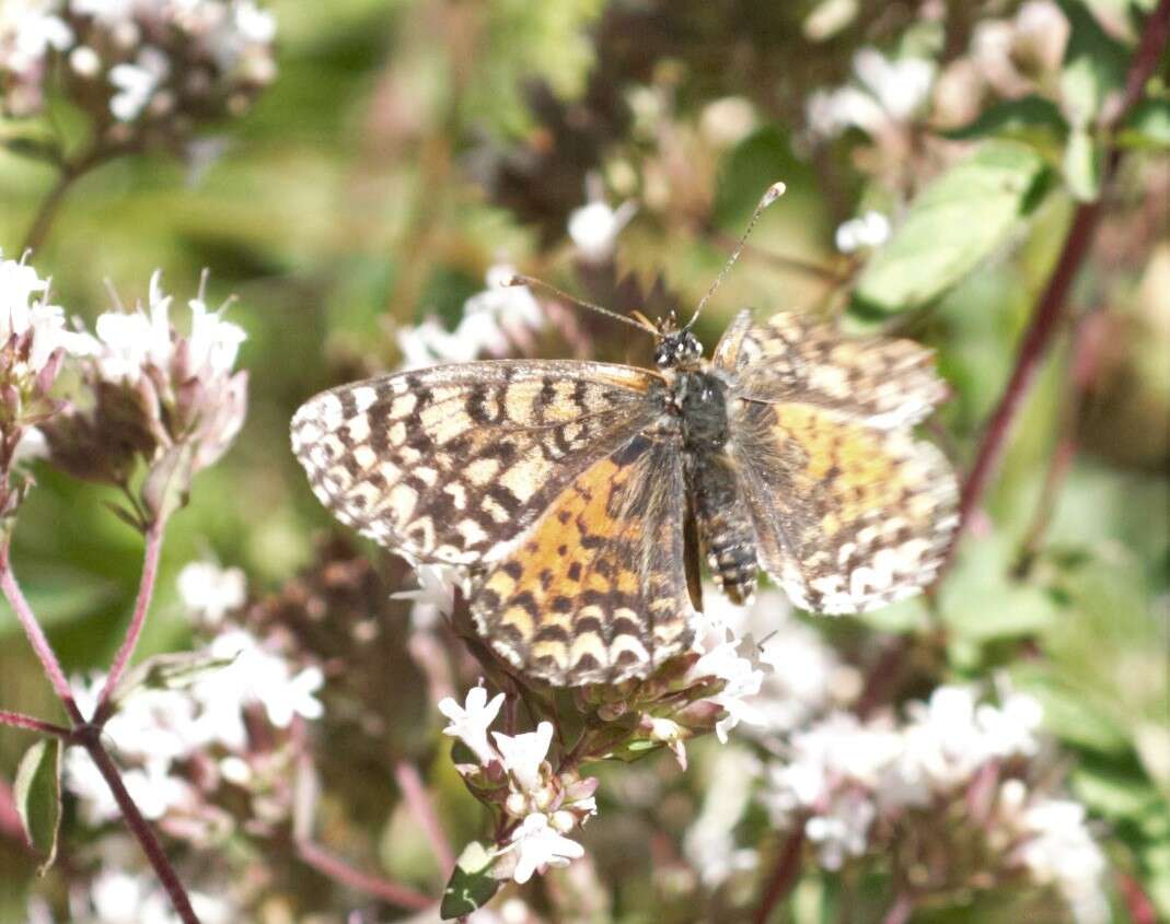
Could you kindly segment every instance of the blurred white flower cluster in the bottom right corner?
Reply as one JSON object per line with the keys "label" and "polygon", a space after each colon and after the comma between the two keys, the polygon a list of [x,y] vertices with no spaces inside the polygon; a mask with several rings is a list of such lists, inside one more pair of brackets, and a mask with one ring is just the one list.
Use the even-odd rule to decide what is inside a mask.
{"label": "blurred white flower cluster in the bottom right corner", "polygon": [[[778,826],[803,825],[821,866],[839,869],[870,849],[878,819],[964,798],[985,768],[1034,757],[1041,718],[1031,696],[1009,691],[993,705],[965,687],[938,688],[911,704],[902,724],[833,712],[792,736],[786,760],[768,771],[764,804]],[[1081,909],[1078,920],[1106,919],[1083,911],[1103,908],[1104,861],[1080,806],[1031,794],[1012,778],[1000,786],[996,814],[989,842],[1009,849],[1038,883],[1055,885]]]}

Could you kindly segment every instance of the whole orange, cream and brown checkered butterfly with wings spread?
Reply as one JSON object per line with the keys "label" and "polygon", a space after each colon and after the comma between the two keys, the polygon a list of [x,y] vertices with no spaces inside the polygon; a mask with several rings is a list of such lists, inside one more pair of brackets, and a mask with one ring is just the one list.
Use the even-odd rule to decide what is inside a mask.
{"label": "whole orange, cream and brown checkered butterfly with wings spread", "polygon": [[763,570],[817,613],[934,580],[958,517],[913,432],[947,395],[929,350],[745,310],[708,360],[690,324],[649,329],[653,370],[475,361],[333,388],[297,411],[292,451],[342,523],[466,568],[480,634],[555,685],[687,651],[700,554],[732,601]]}

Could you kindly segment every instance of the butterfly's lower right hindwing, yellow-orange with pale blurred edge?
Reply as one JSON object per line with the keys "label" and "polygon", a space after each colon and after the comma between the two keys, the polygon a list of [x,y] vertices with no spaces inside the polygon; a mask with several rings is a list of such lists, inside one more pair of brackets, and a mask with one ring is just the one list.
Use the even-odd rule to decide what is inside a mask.
{"label": "butterfly's lower right hindwing, yellow-orange with pale blurred edge", "polygon": [[863,612],[934,580],[958,522],[937,448],[806,405],[745,401],[738,425],[760,564],[798,606]]}

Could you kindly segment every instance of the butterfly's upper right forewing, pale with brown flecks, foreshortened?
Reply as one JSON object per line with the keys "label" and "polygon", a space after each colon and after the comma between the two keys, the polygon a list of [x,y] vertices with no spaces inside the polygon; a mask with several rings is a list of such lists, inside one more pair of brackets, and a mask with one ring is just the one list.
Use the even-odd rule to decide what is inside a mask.
{"label": "butterfly's upper right forewing, pale with brown flecks, foreshortened", "polygon": [[715,350],[735,373],[735,392],[762,401],[799,401],[879,429],[923,420],[947,398],[930,350],[913,340],[846,338],[804,315],[757,324],[741,311]]}

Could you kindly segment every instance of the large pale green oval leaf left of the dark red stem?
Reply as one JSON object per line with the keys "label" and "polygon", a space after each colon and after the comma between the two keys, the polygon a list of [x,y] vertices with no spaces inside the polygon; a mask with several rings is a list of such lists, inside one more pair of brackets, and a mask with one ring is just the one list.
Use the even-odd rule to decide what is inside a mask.
{"label": "large pale green oval leaf left of the dark red stem", "polygon": [[942,295],[1006,240],[1047,175],[1027,145],[984,144],[922,191],[861,274],[854,309],[890,315]]}

